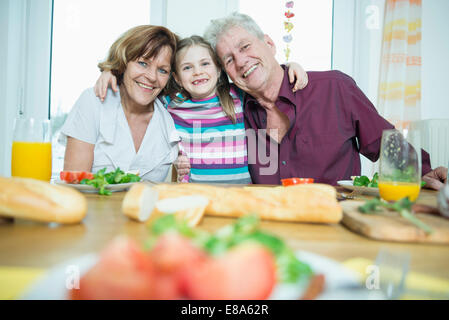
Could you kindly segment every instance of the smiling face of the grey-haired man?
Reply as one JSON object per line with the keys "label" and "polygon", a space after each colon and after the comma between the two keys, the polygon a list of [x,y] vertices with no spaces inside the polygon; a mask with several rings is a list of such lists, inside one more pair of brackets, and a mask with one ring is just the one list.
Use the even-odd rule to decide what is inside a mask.
{"label": "smiling face of the grey-haired man", "polygon": [[271,38],[265,35],[260,40],[241,27],[232,27],[218,38],[217,54],[232,81],[249,94],[266,90],[279,67]]}

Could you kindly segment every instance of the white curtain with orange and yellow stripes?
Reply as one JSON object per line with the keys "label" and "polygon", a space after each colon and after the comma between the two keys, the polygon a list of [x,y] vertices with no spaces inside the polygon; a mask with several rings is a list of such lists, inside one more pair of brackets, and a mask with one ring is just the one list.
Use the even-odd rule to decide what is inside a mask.
{"label": "white curtain with orange and yellow stripes", "polygon": [[386,1],[378,110],[397,129],[421,118],[421,0]]}

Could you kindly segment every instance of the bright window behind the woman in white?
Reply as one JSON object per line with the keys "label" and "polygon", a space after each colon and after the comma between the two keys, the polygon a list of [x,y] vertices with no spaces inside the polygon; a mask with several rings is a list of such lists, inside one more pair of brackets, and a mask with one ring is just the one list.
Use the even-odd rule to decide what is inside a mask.
{"label": "bright window behind the woman in white", "polygon": [[68,112],[100,75],[97,64],[126,30],[150,22],[150,0],[54,0],[50,113],[53,175],[63,169],[57,142]]}

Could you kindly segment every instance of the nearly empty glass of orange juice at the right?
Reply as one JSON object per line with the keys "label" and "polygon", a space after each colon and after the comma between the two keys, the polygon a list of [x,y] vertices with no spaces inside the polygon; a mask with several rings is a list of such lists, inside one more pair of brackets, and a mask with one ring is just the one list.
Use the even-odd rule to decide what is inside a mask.
{"label": "nearly empty glass of orange juice at the right", "polygon": [[386,201],[418,198],[421,189],[421,140],[418,131],[385,130],[379,160],[379,193]]}

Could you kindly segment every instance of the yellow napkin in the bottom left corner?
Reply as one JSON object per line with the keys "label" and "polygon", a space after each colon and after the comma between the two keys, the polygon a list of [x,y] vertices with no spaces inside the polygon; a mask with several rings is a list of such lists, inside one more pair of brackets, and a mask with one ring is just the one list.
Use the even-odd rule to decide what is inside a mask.
{"label": "yellow napkin in the bottom left corner", "polygon": [[25,290],[44,273],[45,269],[0,267],[0,300],[20,299]]}

